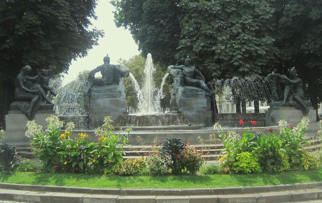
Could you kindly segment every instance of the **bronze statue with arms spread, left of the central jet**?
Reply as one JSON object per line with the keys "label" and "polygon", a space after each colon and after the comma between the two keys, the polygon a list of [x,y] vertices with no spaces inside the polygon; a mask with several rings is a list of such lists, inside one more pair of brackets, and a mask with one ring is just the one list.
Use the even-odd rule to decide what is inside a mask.
{"label": "bronze statue with arms spread, left of the central jet", "polygon": [[[121,77],[128,77],[130,72],[127,67],[120,67],[109,64],[110,60],[108,55],[103,59],[104,64],[98,66],[96,69],[89,73],[88,81],[90,86],[97,85],[118,85]],[[95,74],[101,72],[102,78],[95,78]]]}

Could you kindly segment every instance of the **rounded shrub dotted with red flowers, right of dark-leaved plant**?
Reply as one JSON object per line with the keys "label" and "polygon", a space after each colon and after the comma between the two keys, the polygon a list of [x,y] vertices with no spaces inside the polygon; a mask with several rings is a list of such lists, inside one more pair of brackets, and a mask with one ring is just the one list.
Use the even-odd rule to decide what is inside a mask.
{"label": "rounded shrub dotted with red flowers, right of dark-leaved plant", "polygon": [[179,160],[177,160],[182,168],[186,168],[191,174],[196,174],[204,163],[204,159],[202,154],[195,150],[189,142],[187,145],[180,150],[180,154],[177,155]]}

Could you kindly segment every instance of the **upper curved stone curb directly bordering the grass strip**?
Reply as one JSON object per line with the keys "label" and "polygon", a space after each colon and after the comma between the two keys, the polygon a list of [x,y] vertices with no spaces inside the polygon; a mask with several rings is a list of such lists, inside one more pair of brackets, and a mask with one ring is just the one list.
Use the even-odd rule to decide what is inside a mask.
{"label": "upper curved stone curb directly bordering the grass strip", "polygon": [[247,187],[224,187],[224,188],[183,188],[183,189],[122,189],[122,188],[81,188],[59,187],[42,185],[20,185],[0,183],[0,189],[46,191],[62,193],[84,194],[108,194],[108,195],[158,195],[158,196],[186,196],[186,195],[223,195],[223,194],[246,194],[262,192],[278,192],[295,189],[311,189],[322,187],[322,182],[297,183],[294,185],[272,186],[247,186]]}

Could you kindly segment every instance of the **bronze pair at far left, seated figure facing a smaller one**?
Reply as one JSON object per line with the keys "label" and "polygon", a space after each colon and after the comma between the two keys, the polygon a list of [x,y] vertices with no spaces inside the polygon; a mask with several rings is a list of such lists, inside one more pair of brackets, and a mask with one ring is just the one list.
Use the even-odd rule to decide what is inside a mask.
{"label": "bronze pair at far left, seated figure facing a smaller one", "polygon": [[[21,68],[20,73],[15,78],[15,101],[22,113],[27,118],[33,119],[40,106],[50,105],[53,109],[52,102],[47,97],[49,91],[52,95],[56,96],[57,93],[49,87],[49,79],[53,76],[53,69],[37,70],[38,75],[31,77],[32,67],[26,65]],[[30,104],[21,103],[21,101],[29,101]],[[20,103],[19,103],[20,102]]]}

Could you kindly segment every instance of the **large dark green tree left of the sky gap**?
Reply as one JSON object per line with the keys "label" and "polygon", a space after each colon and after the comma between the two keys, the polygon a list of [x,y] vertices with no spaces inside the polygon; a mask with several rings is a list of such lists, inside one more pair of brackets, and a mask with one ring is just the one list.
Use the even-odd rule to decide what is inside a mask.
{"label": "large dark green tree left of the sky gap", "polygon": [[0,1],[2,111],[13,99],[13,81],[22,66],[67,72],[72,59],[97,44],[102,32],[89,28],[95,7],[96,0]]}

